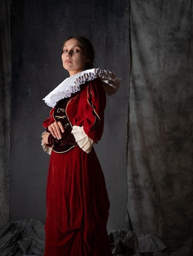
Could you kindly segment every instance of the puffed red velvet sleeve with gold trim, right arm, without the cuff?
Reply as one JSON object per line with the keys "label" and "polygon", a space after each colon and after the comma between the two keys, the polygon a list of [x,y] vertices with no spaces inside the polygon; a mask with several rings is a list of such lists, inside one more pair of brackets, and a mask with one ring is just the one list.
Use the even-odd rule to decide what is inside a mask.
{"label": "puffed red velvet sleeve with gold trim, right arm, without the cuff", "polygon": [[105,106],[105,90],[98,79],[82,85],[74,124],[83,126],[86,135],[94,142],[100,140],[103,134]]}

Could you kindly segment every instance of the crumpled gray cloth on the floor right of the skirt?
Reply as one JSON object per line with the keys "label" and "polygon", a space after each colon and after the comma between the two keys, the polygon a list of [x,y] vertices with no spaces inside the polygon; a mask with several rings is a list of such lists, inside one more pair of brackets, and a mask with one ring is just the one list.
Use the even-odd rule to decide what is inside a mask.
{"label": "crumpled gray cloth on the floor right of the skirt", "polygon": [[166,245],[151,234],[119,229],[108,233],[113,255],[116,256],[193,256],[193,237],[179,251],[169,253]]}

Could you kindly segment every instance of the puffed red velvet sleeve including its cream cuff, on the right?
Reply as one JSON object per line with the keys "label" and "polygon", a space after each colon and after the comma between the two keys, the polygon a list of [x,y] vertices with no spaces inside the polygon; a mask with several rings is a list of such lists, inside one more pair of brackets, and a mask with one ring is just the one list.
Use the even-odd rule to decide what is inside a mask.
{"label": "puffed red velvet sleeve including its cream cuff, on the right", "polygon": [[72,133],[78,145],[89,153],[103,134],[106,95],[103,85],[94,79],[82,85],[79,108],[73,119]]}

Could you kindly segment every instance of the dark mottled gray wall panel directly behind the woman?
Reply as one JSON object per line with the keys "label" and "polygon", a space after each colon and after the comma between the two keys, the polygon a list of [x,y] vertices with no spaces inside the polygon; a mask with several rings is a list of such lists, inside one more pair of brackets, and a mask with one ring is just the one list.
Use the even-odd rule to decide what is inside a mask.
{"label": "dark mottled gray wall panel directly behind the woman", "polygon": [[12,97],[10,220],[45,220],[49,155],[40,146],[50,108],[42,98],[68,75],[61,46],[88,37],[95,66],[117,73],[121,88],[107,97],[105,128],[95,146],[110,198],[108,230],[126,225],[126,138],[129,94],[127,0],[20,0],[11,4]]}

